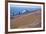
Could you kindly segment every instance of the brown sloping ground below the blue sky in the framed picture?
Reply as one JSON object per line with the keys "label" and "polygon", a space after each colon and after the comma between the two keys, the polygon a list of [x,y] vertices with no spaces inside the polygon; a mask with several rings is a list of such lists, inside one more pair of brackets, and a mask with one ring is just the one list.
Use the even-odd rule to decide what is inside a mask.
{"label": "brown sloping ground below the blue sky in the framed picture", "polygon": [[11,28],[34,28],[41,26],[41,10],[11,19]]}

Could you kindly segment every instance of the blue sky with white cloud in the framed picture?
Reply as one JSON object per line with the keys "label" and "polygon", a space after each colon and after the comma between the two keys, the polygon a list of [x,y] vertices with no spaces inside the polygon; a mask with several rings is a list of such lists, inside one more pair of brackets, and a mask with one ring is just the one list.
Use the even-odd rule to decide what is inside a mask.
{"label": "blue sky with white cloud in the framed picture", "polygon": [[34,11],[34,10],[38,10],[38,9],[41,9],[41,6],[29,6],[29,5],[10,5],[10,12],[11,12],[11,15],[13,15],[13,13],[16,15],[18,14],[19,12],[20,13],[24,13],[26,11]]}

